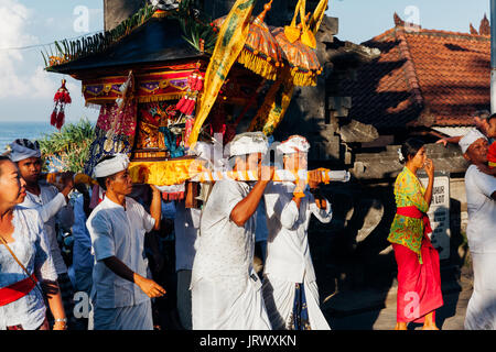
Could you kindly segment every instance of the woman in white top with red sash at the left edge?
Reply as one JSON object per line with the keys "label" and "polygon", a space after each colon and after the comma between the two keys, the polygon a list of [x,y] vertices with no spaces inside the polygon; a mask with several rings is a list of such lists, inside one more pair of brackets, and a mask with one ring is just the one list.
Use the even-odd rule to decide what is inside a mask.
{"label": "woman in white top with red sash at the left edge", "polygon": [[57,275],[43,223],[36,210],[18,207],[25,182],[14,163],[0,156],[0,330],[48,330],[44,294],[55,318],[54,330],[65,330],[66,318]]}

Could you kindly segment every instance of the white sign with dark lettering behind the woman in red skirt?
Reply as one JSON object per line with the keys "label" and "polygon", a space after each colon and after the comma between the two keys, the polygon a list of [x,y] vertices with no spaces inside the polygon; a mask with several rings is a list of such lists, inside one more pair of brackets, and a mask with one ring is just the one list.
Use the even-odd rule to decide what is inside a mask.
{"label": "white sign with dark lettering behind the woman in red skirt", "polygon": [[[420,182],[423,187],[429,184],[428,178],[420,178]],[[451,239],[449,176],[434,176],[432,201],[428,215],[432,227],[432,245],[439,251],[440,260],[448,260],[450,257]]]}

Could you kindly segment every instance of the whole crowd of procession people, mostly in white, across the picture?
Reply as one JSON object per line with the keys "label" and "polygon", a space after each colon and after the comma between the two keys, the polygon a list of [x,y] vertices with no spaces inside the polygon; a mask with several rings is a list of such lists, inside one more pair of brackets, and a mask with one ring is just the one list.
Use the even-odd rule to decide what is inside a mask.
{"label": "whole crowd of procession people, mostly in white, across the picture", "polygon": [[[488,143],[496,114],[477,119],[478,129],[440,142],[459,143],[471,163],[465,183],[475,286],[465,328],[496,329],[496,144]],[[273,180],[263,133],[236,135],[225,153],[234,172],[258,180],[217,180],[202,188],[196,206],[164,200],[160,187],[133,185],[125,154],[98,162],[97,186],[75,184],[71,173],[54,186],[43,177],[36,142],[10,146],[0,156],[0,330],[330,330],[308,238],[312,215],[323,223],[333,217],[322,173]],[[309,150],[300,135],[277,143],[278,167],[306,170]],[[398,265],[395,329],[414,321],[436,330],[443,297],[427,216],[434,165],[420,140],[406,141],[398,154],[405,167],[388,237]],[[74,238],[71,265],[61,231]],[[88,297],[83,321],[76,293]]]}

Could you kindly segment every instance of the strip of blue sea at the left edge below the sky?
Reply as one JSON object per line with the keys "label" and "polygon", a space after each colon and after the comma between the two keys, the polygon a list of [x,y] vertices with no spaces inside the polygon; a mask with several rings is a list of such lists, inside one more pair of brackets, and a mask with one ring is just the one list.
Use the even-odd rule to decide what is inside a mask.
{"label": "strip of blue sea at the left edge below the sky", "polygon": [[17,139],[39,141],[45,134],[52,134],[53,132],[57,132],[57,129],[47,121],[13,122],[0,120],[0,154],[3,154],[6,146]]}

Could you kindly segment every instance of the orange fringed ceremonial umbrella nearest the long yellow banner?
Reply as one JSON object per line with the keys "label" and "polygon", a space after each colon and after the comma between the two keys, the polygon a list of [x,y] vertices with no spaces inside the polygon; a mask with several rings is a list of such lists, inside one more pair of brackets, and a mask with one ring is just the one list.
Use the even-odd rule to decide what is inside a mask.
{"label": "orange fringed ceremonial umbrella nearest the long yellow banner", "polygon": [[[257,75],[276,80],[279,68],[283,66],[284,54],[263,22],[267,12],[272,8],[272,1],[267,3],[263,11],[251,21],[248,37],[237,61]],[[226,16],[222,16],[213,24],[220,28],[225,20]]]}

